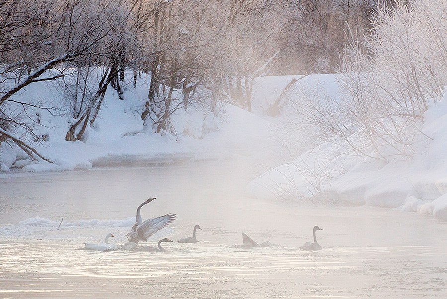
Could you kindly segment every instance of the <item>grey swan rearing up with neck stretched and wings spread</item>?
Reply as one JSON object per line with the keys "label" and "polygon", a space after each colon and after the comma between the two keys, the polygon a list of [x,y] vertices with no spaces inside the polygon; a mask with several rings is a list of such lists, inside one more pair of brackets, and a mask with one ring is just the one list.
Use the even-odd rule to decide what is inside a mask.
{"label": "grey swan rearing up with neck stretched and wings spread", "polygon": [[137,208],[137,216],[135,217],[135,224],[132,226],[131,231],[126,235],[129,242],[137,244],[140,240],[147,241],[150,236],[165,228],[175,220],[175,214],[166,214],[164,216],[150,218],[143,222],[140,214],[140,209],[143,205],[148,204],[156,198],[149,198]]}

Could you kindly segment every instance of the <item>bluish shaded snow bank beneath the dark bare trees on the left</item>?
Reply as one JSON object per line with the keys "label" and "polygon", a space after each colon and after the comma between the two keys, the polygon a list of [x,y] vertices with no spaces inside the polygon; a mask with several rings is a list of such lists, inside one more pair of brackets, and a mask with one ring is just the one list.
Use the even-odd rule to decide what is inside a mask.
{"label": "bluish shaded snow bank beneath the dark bare trees on the left", "polygon": [[[256,153],[254,148],[260,144],[257,140],[265,137],[269,123],[230,104],[223,104],[219,115],[196,104],[188,105],[187,110],[176,110],[171,117],[176,136],[157,134],[150,126],[144,126],[140,113],[147,100],[150,76],[142,75],[135,89],[124,86],[124,100],[118,98],[114,89],[107,89],[98,118],[93,127],[87,126],[83,141],[65,140],[73,121],[70,116],[58,115],[52,110],[29,108],[28,114],[31,117],[35,115],[36,135],[45,136],[45,141],[32,145],[55,163],[31,161],[22,150],[2,142],[0,171],[62,171],[89,169],[95,163],[104,165],[113,164],[113,161],[169,160],[178,157],[222,159]],[[132,82],[132,78],[128,78],[127,82]],[[69,103],[64,88],[57,84],[34,83],[20,97],[65,111]],[[14,106],[7,108],[14,109]]]}

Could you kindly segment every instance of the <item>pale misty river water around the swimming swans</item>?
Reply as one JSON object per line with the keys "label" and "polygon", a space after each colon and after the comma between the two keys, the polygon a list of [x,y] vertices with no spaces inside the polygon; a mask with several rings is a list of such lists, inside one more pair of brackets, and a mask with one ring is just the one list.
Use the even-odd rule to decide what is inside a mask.
{"label": "pale misty river water around the swimming swans", "polygon": [[[242,161],[0,174],[0,298],[447,298],[447,223],[252,199],[255,172]],[[77,250],[108,232],[125,243],[148,197],[144,219],[177,219],[139,246],[194,224],[201,242]],[[314,225],[323,249],[300,250]],[[275,246],[243,248],[241,233]]]}

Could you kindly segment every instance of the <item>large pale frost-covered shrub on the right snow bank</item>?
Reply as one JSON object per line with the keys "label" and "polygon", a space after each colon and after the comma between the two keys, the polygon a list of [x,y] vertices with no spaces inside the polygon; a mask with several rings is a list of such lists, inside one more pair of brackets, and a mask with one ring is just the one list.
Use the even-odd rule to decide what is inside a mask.
{"label": "large pale frost-covered shrub on the right snow bank", "polygon": [[386,160],[413,154],[428,100],[447,82],[446,14],[446,0],[398,0],[379,7],[365,41],[346,49],[336,114],[352,128],[348,146]]}

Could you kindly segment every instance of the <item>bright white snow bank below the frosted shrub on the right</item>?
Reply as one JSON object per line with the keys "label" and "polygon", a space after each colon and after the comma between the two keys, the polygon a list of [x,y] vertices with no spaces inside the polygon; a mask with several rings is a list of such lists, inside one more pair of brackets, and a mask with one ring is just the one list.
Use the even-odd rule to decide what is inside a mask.
{"label": "bright white snow bank below the frosted shrub on the right", "polygon": [[[314,84],[320,89],[324,81],[315,77],[301,82],[298,89],[310,91]],[[329,84],[326,93],[337,93],[336,75],[321,77]],[[284,87],[290,78],[270,81]],[[269,85],[269,79],[264,78],[263,84]],[[261,102],[272,102],[273,98],[268,93],[258,95]],[[293,100],[303,99],[298,95]],[[268,110],[265,102],[257,105],[258,113]],[[248,191],[258,198],[279,197],[307,204],[399,208],[447,221],[447,93],[430,103],[419,129],[431,139],[421,134],[413,144],[413,157],[390,161],[368,158],[349,152],[343,138],[331,138],[260,175],[248,185]]]}

